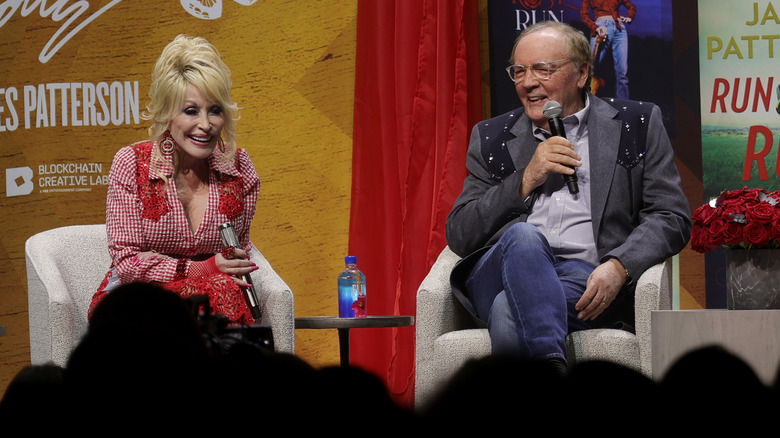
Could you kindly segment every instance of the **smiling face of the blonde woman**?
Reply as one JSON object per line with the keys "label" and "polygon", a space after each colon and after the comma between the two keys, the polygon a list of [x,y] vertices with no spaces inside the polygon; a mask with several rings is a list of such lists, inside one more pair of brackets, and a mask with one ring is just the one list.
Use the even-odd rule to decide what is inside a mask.
{"label": "smiling face of the blonde woman", "polygon": [[171,119],[169,131],[182,158],[206,159],[217,147],[224,125],[222,107],[190,85],[181,110]]}

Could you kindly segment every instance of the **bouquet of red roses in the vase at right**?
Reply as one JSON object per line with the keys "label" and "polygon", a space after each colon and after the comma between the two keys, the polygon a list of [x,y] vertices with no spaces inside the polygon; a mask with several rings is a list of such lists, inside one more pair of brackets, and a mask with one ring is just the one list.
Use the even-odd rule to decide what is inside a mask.
{"label": "bouquet of red roses in the vase at right", "polygon": [[726,248],[780,247],[780,191],[724,191],[693,212],[691,248],[709,252]]}

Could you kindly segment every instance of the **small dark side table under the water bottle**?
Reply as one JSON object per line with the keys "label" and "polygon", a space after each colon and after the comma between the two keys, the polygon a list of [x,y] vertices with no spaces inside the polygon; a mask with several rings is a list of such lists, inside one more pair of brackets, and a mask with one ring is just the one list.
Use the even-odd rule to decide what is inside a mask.
{"label": "small dark side table under the water bottle", "polygon": [[295,318],[296,329],[337,329],[341,366],[349,366],[349,331],[353,328],[407,327],[414,324],[409,315],[369,315],[365,318],[302,316]]}

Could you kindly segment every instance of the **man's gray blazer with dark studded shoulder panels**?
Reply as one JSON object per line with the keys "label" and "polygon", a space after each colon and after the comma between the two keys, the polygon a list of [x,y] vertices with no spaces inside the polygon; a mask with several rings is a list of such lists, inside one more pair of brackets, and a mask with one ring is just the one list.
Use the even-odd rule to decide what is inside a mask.
{"label": "man's gray blazer with dark studded shoulder panels", "polygon": [[[598,256],[602,262],[617,257],[631,278],[639,278],[650,266],[679,253],[690,238],[690,207],[674,150],[661,110],[642,103],[646,153],[630,166],[621,163],[623,126],[618,110],[592,94],[588,97],[591,213]],[[507,126],[509,132],[503,138],[481,138],[480,124]],[[522,109],[480,124],[472,130],[463,191],[447,218],[447,243],[465,258],[461,263],[469,265],[509,226],[526,220],[528,206],[520,199],[519,189],[523,171],[539,144]],[[506,145],[516,169],[502,180],[491,175],[482,153],[483,148],[500,148],[500,143]],[[458,286],[455,278],[453,286]]]}

